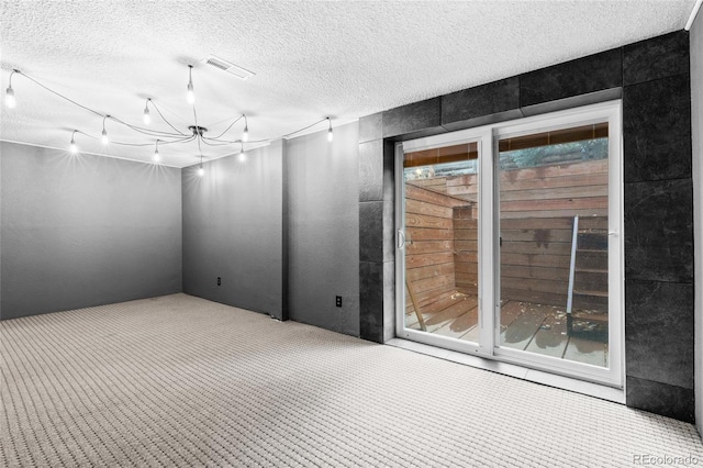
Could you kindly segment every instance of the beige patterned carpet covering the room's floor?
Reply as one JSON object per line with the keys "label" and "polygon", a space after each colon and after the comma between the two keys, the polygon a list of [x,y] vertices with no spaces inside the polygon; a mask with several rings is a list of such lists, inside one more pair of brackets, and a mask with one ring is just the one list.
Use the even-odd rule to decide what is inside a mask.
{"label": "beige patterned carpet covering the room's floor", "polygon": [[186,294],[0,333],[1,466],[703,465],[691,424]]}

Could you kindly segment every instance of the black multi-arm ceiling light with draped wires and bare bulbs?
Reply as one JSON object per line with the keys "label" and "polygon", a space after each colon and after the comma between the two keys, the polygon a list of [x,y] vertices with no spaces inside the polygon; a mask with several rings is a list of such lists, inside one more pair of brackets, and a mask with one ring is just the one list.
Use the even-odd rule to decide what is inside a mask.
{"label": "black multi-arm ceiling light with draped wires and bare bulbs", "polygon": [[[42,83],[41,81],[34,79],[31,76],[27,76],[25,74],[23,74],[22,71],[20,71],[19,69],[13,69],[10,73],[10,77],[9,77],[9,82],[8,82],[8,89],[5,91],[5,103],[8,107],[14,107],[14,104],[16,103],[14,100],[14,90],[12,89],[12,77],[14,74],[21,75],[23,78],[29,79],[30,81],[34,82],[35,85],[37,85],[40,88],[43,88],[44,90],[48,91],[49,93],[65,100],[68,101],[69,103],[87,111],[90,112],[94,115],[98,115],[100,118],[102,118],[102,132],[100,136],[97,136],[94,134],[88,134],[86,132],[82,132],[80,130],[74,130],[71,133],[71,137],[70,137],[70,146],[69,146],[69,151],[74,154],[78,153],[78,145],[76,144],[76,133],[80,133],[85,136],[87,136],[88,138],[92,138],[96,141],[101,141],[103,145],[122,145],[122,146],[131,146],[131,147],[149,147],[154,145],[154,140],[150,140],[150,142],[126,142],[126,141],[111,141],[110,137],[108,136],[108,129],[105,126],[105,122],[108,119],[110,119],[112,122],[114,122],[115,124],[120,124],[125,126],[126,129],[131,130],[132,132],[134,132],[135,134],[137,134],[138,136],[144,137],[144,135],[150,136],[156,140],[156,145],[154,145],[154,154],[153,154],[153,160],[154,161],[160,161],[161,160],[161,155],[158,151],[158,146],[159,145],[170,145],[170,144],[188,144],[191,142],[196,142],[198,144],[198,151],[200,154],[200,167],[198,168],[198,175],[199,176],[203,176],[204,175],[204,168],[203,168],[203,154],[202,154],[202,148],[201,145],[207,145],[207,146],[230,146],[230,145],[239,145],[239,153],[238,153],[238,160],[241,161],[245,161],[247,159],[247,155],[244,152],[244,143],[249,142],[249,122],[248,119],[245,114],[238,114],[235,118],[231,119],[231,122],[228,123],[228,125],[219,134],[213,135],[213,136],[208,136],[208,127],[203,126],[202,124],[200,124],[198,122],[198,113],[196,112],[196,105],[194,105],[194,94],[193,94],[193,82],[192,82],[192,65],[188,66],[188,97],[189,97],[189,101],[193,103],[193,120],[194,120],[194,124],[189,125],[187,129],[181,129],[178,125],[175,125],[174,123],[169,122],[164,114],[161,113],[159,105],[157,105],[157,103],[152,99],[152,98],[146,98],[146,101],[144,103],[144,111],[143,111],[143,120],[145,124],[150,124],[152,123],[152,110],[154,110],[156,112],[156,115],[158,115],[160,123],[168,125],[168,127],[163,126],[160,129],[154,129],[154,127],[144,127],[144,126],[137,126],[131,123],[127,123],[114,115],[109,115],[109,114],[104,114],[102,112],[99,112],[94,109],[91,109],[87,105],[83,105],[80,102],[77,102],[74,99],[70,99],[64,94],[62,94],[60,92],[57,92],[51,88],[48,88],[47,86],[45,86],[44,83]],[[242,132],[242,136],[238,140],[234,140],[234,138],[227,138],[225,136],[225,134],[241,120],[244,120],[244,129]],[[327,130],[327,138],[330,141],[332,141],[332,120],[331,118],[326,116],[323,118],[316,122],[311,123],[310,125],[306,125],[302,129],[295,130],[293,132],[280,135],[280,136],[276,136],[272,138],[263,138],[263,140],[257,140],[255,142],[249,142],[249,143],[254,143],[254,144],[266,144],[269,142],[272,142],[275,140],[280,140],[280,138],[289,138],[295,134],[299,134],[301,132],[304,132],[309,129],[312,129],[316,125],[320,125],[322,122],[327,121],[328,123],[328,130]],[[83,148],[85,151],[85,148]]]}

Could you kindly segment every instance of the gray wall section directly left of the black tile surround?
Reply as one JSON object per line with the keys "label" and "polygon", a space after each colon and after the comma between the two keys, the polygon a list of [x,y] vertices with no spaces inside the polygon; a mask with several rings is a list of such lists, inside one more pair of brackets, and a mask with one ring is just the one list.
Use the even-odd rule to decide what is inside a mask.
{"label": "gray wall section directly left of the black tile surround", "polygon": [[[359,335],[358,123],[289,140],[290,319]],[[343,307],[335,307],[342,296]]]}

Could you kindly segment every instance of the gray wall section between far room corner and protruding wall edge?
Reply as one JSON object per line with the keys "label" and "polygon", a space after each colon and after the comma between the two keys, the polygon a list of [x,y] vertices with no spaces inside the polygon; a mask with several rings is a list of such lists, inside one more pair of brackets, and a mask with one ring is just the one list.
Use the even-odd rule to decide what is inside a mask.
{"label": "gray wall section between far room corner and protruding wall edge", "polygon": [[280,317],[282,142],[203,167],[182,170],[183,292]]}

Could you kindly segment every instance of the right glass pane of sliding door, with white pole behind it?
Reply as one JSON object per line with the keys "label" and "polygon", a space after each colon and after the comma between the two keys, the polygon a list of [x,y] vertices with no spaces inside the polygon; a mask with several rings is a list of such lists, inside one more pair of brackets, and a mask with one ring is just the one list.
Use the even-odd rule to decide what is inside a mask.
{"label": "right glass pane of sliding door, with white pole behind it", "polygon": [[607,124],[499,142],[500,346],[609,366]]}

